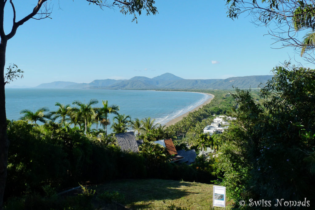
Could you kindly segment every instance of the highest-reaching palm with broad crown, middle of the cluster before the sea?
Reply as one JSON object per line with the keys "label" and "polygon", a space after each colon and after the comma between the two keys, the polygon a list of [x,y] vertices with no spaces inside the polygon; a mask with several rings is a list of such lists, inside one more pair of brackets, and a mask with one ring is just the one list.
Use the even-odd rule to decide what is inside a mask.
{"label": "highest-reaching palm with broad crown, middle of the cluster before the sea", "polygon": [[91,99],[87,104],[84,104],[79,100],[75,100],[74,102],[72,102],[73,105],[79,106],[79,108],[77,109],[77,116],[81,116],[82,121],[84,120],[85,134],[87,134],[87,124],[92,121],[92,117],[95,115],[95,108],[93,108],[92,105],[95,105],[97,103],[97,99]]}

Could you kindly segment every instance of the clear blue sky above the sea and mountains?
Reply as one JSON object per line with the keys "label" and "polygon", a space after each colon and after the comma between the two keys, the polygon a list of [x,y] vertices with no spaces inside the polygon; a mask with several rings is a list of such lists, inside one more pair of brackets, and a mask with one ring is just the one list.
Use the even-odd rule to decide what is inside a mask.
{"label": "clear blue sky above the sea and mountains", "polygon": [[[158,14],[143,13],[136,24],[119,9],[52,0],[52,19],[31,19],[8,41],[6,67],[14,63],[24,71],[23,79],[8,86],[152,78],[167,72],[184,79],[226,79],[270,75],[290,58],[305,63],[293,48],[273,49],[280,45],[272,45],[268,29],[255,26],[249,16],[228,18],[225,2],[156,1]],[[16,3],[16,19],[36,3]],[[7,3],[6,33],[12,17]]]}

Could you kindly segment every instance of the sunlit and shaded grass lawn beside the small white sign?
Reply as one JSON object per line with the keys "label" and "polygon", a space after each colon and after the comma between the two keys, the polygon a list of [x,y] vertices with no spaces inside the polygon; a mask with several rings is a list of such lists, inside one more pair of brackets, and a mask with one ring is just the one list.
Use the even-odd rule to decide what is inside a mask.
{"label": "sunlit and shaded grass lawn beside the small white sign", "polygon": [[[212,184],[163,180],[123,179],[93,187],[96,195],[105,191],[124,195],[124,206],[131,209],[212,209]],[[232,202],[227,202],[231,206]],[[223,209],[215,207],[215,209]],[[226,209],[230,209],[227,207]]]}

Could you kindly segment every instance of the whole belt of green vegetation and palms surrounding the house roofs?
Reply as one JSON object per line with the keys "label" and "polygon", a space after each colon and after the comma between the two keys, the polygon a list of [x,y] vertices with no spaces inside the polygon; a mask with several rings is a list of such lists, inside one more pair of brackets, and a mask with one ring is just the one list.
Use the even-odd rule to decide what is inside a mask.
{"label": "whole belt of green vegetation and palms surrounding the house roofs", "polygon": [[[96,101],[91,100],[88,104],[75,101],[74,107],[56,103],[60,109],[55,112],[23,110],[22,118],[34,124],[8,122],[6,198],[47,196],[78,182],[159,178],[224,185],[236,207],[238,201],[249,199],[272,204],[277,198],[312,202],[314,81],[314,70],[287,65],[275,68],[272,80],[258,91],[190,90],[215,98],[167,128],[151,118],[132,121],[107,101],[98,108],[92,107]],[[108,113],[116,114],[112,121]],[[203,133],[215,116],[224,114],[236,117],[227,131],[212,136]],[[49,118],[59,123],[46,122]],[[46,123],[39,126],[37,121]],[[103,128],[91,129],[92,123]],[[114,133],[135,130],[136,138],[144,140],[138,154],[120,151],[114,133],[106,133],[110,123]],[[176,149],[189,147],[199,153],[210,147],[217,155],[198,156],[190,166],[176,165],[169,162],[165,148],[152,144],[165,138],[172,138]]]}

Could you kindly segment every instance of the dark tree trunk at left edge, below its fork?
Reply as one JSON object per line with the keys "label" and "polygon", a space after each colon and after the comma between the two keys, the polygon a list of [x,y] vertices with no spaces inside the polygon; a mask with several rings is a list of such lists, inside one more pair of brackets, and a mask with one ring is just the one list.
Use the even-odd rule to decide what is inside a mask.
{"label": "dark tree trunk at left edge, below its fork", "polygon": [[3,209],[3,195],[7,177],[9,139],[7,136],[7,116],[5,113],[4,65],[7,40],[0,43],[0,209]]}

